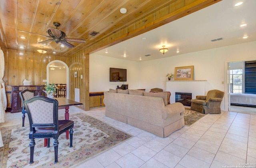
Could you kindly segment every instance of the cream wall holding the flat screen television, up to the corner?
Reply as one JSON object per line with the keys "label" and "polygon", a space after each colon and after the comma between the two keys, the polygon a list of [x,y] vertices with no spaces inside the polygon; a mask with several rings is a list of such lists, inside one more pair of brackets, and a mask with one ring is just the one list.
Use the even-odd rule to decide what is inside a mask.
{"label": "cream wall holding the flat screen television, up to the corner", "polygon": [[[121,86],[122,84],[128,84],[129,89],[141,88],[140,62],[127,61],[96,54],[90,54],[89,60],[90,92],[108,91],[110,88],[116,89],[117,85]],[[127,69],[127,82],[110,82],[110,67]]]}

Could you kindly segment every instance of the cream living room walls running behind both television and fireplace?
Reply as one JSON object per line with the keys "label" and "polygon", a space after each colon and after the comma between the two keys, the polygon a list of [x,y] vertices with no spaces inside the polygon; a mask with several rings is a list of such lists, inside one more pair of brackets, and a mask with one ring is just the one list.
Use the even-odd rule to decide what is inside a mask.
{"label": "cream living room walls running behind both television and fireplace", "polygon": [[[121,84],[129,84],[129,88],[145,88],[147,92],[151,88],[166,90],[167,73],[174,73],[175,67],[194,65],[194,80],[207,80],[206,93],[212,89],[225,91],[221,109],[227,110],[224,107],[228,99],[227,62],[256,60],[256,41],[164,58],[166,55],[162,59],[132,62],[91,54],[90,91],[114,89]],[[109,82],[110,67],[126,68],[127,82]]]}

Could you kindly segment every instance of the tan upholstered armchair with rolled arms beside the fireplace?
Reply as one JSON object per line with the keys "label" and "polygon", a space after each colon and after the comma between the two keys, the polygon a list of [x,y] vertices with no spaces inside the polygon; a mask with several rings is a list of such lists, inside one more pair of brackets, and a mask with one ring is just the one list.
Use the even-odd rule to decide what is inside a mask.
{"label": "tan upholstered armchair with rolled arms beside the fireplace", "polygon": [[190,109],[203,114],[220,114],[220,104],[223,97],[224,92],[220,90],[209,90],[206,96],[196,96],[196,99],[192,99]]}

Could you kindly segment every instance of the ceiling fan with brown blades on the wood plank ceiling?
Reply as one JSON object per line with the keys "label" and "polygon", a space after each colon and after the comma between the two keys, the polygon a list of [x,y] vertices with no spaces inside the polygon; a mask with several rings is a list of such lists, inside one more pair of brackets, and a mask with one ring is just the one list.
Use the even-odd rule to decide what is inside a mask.
{"label": "ceiling fan with brown blades on the wood plank ceiling", "polygon": [[[45,36],[47,38],[52,38],[52,39],[48,39],[48,40],[44,40],[42,42],[38,42],[40,44],[45,44],[51,41],[56,42],[57,44],[60,42],[61,44],[64,44],[65,46],[67,46],[68,48],[74,48],[75,46],[70,44],[69,42],[76,42],[76,43],[86,43],[86,40],[84,40],[83,38],[66,38],[66,33],[58,30],[57,28],[60,26],[59,22],[53,22],[54,26],[56,26],[56,28],[50,27],[46,32],[49,34],[49,36],[45,36],[42,34],[37,34],[37,33],[32,33],[32,32],[27,32],[27,33],[32,33],[32,34],[37,34],[40,36]],[[26,32],[23,30],[18,30],[20,32]]]}

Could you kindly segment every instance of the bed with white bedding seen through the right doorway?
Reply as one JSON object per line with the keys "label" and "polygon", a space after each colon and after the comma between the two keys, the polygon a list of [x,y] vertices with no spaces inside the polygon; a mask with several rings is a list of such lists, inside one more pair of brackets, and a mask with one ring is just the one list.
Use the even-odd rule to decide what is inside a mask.
{"label": "bed with white bedding seen through the right doorway", "polygon": [[256,107],[256,94],[230,93],[230,104],[242,105],[242,106],[255,106]]}

